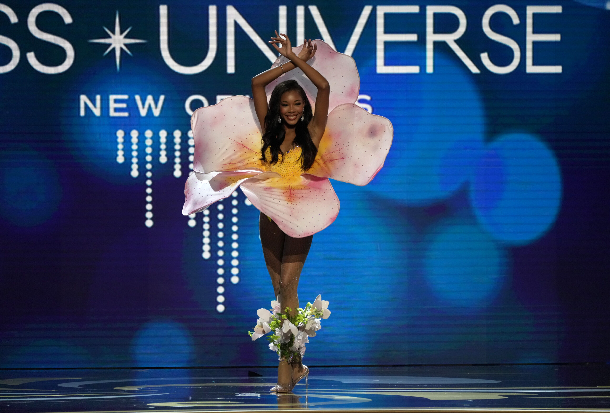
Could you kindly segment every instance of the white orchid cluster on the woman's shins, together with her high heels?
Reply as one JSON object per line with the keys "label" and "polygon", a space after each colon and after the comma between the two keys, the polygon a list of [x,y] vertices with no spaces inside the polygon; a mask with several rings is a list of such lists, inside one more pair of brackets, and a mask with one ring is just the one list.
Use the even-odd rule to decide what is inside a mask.
{"label": "white orchid cluster on the woman's shins, together with her high heels", "polygon": [[[257,311],[259,319],[256,327],[254,332],[248,331],[248,334],[254,341],[273,332],[267,337],[270,350],[278,353],[279,361],[289,362],[303,370],[300,376],[293,379],[292,387],[294,387],[296,382],[309,373],[309,369],[302,364],[305,345],[309,343],[309,337],[316,336],[316,332],[321,328],[320,320],[328,319],[331,311],[328,309],[328,301],[322,300],[321,295],[315,298],[314,303],[308,302],[305,308],[299,308],[294,316],[290,315],[290,311],[290,308],[285,308],[282,312],[279,302],[273,300],[271,311],[266,308]],[[290,391],[292,387],[284,390]]]}

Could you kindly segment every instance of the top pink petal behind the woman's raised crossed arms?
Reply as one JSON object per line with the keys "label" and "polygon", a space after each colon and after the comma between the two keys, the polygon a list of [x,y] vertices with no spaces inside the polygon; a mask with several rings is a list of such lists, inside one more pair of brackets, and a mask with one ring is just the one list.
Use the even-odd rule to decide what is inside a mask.
{"label": "top pink petal behind the woman's raised crossed arms", "polygon": [[[328,83],[331,85],[331,96],[329,100],[328,111],[330,112],[333,108],[357,101],[358,93],[360,91],[360,77],[358,76],[358,70],[356,69],[356,62],[351,56],[343,53],[339,53],[331,48],[325,41],[314,40],[312,44],[318,45],[318,50],[315,52],[315,56],[310,58],[307,64],[315,68],[320,74],[326,77]],[[296,46],[292,48],[293,52],[297,55],[301,51],[303,46]],[[289,60],[284,56],[280,56],[271,67],[279,66],[280,63],[287,63]],[[314,86],[311,80],[307,79],[307,76],[299,68],[292,69],[291,71],[282,74],[278,79],[269,83],[265,88],[267,91],[267,101],[271,97],[273,88],[284,80],[294,79],[305,90],[309,101],[312,106],[315,104],[315,97],[318,94],[318,89]]]}

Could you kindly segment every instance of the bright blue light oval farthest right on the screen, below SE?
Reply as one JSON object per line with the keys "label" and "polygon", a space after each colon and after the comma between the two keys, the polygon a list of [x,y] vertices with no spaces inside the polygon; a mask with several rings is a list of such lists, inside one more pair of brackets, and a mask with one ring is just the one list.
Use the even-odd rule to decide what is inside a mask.
{"label": "bright blue light oval farthest right on the screen, below SE", "polygon": [[502,135],[487,146],[470,187],[476,218],[493,238],[523,245],[544,235],[561,204],[553,152],[527,133]]}

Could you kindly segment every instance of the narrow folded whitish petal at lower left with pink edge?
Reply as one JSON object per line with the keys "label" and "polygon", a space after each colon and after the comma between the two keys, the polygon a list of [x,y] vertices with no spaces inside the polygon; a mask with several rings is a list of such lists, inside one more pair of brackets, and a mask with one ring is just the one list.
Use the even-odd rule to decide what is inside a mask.
{"label": "narrow folded whitish petal at lower left with pink edge", "polygon": [[185,200],[182,214],[188,215],[205,210],[212,203],[231,195],[244,180],[256,177],[260,173],[259,169],[209,174],[193,172],[184,184]]}

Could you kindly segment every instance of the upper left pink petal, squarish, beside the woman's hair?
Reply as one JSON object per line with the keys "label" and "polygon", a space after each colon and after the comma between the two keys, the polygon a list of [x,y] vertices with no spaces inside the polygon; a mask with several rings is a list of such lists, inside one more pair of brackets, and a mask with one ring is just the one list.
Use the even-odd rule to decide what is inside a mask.
{"label": "upper left pink petal, squarish, beside the woman's hair", "polygon": [[199,108],[191,118],[195,139],[194,168],[198,172],[260,168],[260,125],[254,101],[231,96]]}

